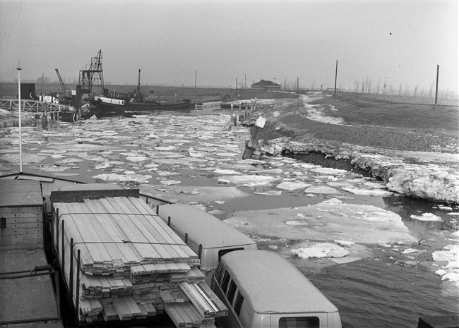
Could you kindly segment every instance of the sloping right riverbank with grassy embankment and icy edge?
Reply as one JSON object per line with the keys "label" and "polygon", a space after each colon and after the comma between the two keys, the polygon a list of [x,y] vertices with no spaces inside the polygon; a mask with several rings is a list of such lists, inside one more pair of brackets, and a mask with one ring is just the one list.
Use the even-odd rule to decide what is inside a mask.
{"label": "sloping right riverbank with grassy embankment and icy edge", "polygon": [[[272,102],[257,113],[268,121],[256,154],[283,154],[306,162],[314,157],[314,164],[335,168],[342,168],[344,161],[347,169],[379,178],[395,193],[459,204],[457,107],[433,111],[431,106],[405,104],[395,115],[391,104],[366,100],[363,106],[362,99],[311,96],[301,102]],[[410,118],[400,118],[400,111]]]}

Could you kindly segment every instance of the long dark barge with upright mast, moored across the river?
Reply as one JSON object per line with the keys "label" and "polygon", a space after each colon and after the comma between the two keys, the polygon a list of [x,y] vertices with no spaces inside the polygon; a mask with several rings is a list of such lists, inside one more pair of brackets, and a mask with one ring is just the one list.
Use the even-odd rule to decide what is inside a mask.
{"label": "long dark barge with upright mast, moored across the river", "polygon": [[[126,95],[123,95],[126,96]],[[153,98],[143,97],[141,94],[141,70],[138,70],[137,92],[133,97],[95,97],[90,99],[91,104],[98,111],[125,112],[126,114],[151,114],[153,111],[176,111],[191,109],[190,99],[173,102],[157,102]]]}

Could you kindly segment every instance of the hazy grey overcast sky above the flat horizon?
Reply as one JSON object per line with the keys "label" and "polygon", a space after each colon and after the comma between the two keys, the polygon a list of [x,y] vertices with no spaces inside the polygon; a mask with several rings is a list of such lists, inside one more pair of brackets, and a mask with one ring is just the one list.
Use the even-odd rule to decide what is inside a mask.
{"label": "hazy grey overcast sky above the flat horizon", "polygon": [[[55,68],[68,83],[102,50],[107,83],[260,79],[458,91],[458,1],[4,1],[1,80]],[[457,93],[456,93],[457,95]]]}

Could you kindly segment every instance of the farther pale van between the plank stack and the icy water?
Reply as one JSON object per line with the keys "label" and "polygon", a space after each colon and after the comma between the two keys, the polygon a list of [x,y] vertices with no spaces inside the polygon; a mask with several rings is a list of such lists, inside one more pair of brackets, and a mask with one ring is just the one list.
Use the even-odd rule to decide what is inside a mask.
{"label": "farther pale van between the plank stack and the icy water", "polygon": [[160,205],[157,214],[198,254],[209,286],[220,257],[234,250],[257,249],[255,241],[244,233],[192,205]]}

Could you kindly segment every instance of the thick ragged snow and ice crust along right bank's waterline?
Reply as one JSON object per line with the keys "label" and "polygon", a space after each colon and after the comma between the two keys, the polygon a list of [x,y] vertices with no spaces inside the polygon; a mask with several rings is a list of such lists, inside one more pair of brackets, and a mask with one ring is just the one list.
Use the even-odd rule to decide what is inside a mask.
{"label": "thick ragged snow and ice crust along right bank's waterline", "polygon": [[[342,145],[340,148],[333,149],[321,145],[291,142],[287,138],[258,142],[258,154],[278,156],[285,151],[297,154],[323,152],[335,159],[349,159],[352,165],[359,169],[369,170],[374,177],[383,179],[389,191],[434,202],[459,204],[459,169],[429,163],[441,157],[442,161],[457,164],[458,154],[447,154],[448,156],[438,154],[437,157],[433,157],[431,153],[425,153],[423,157],[424,153],[416,152],[412,156],[417,156],[419,163],[413,164],[412,159],[405,160],[403,157],[395,156],[400,155],[398,153],[367,147]],[[386,152],[388,155],[375,154],[377,152]],[[347,191],[359,193],[359,190],[354,188],[348,188]],[[374,190],[373,193],[384,192]]]}

